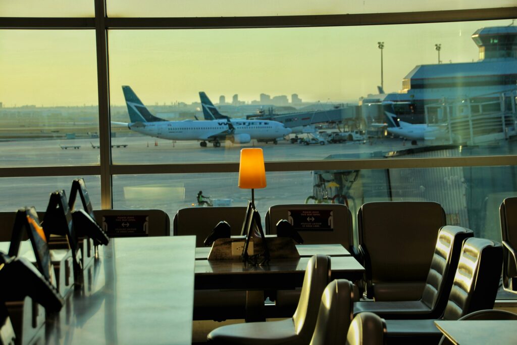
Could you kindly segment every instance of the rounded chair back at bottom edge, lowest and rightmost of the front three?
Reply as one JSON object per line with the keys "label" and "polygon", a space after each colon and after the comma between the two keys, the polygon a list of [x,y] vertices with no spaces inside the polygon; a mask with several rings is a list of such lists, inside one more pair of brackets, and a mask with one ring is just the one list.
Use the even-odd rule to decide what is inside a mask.
{"label": "rounded chair back at bottom edge, lowest and rightmost of the front three", "polygon": [[360,312],[348,327],[346,345],[383,345],[386,332],[384,319],[372,312]]}

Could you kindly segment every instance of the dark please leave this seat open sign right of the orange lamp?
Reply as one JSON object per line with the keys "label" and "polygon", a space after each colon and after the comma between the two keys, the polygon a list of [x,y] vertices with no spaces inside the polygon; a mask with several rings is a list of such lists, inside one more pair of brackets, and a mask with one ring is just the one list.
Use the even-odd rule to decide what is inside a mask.
{"label": "dark please leave this seat open sign right of the orange lamp", "polygon": [[287,211],[287,221],[296,231],[333,231],[334,219],[329,209],[295,209]]}

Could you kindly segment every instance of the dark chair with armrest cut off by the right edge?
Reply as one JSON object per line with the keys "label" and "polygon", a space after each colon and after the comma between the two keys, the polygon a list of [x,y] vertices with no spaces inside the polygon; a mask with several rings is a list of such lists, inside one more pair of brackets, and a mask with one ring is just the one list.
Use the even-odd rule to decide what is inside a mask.
{"label": "dark chair with armrest cut off by the right edge", "polygon": [[503,288],[517,293],[517,198],[506,198],[499,207],[503,239]]}

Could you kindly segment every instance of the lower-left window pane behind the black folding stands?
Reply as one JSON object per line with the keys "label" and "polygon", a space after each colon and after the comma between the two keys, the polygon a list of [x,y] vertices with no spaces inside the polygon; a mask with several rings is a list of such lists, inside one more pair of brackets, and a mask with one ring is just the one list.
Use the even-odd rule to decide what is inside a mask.
{"label": "lower-left window pane behind the black folding stands", "polygon": [[[79,176],[84,178],[90,201],[94,209],[100,209],[100,176]],[[44,212],[49,203],[49,195],[55,190],[64,189],[67,198],[74,176],[55,177],[2,177],[0,178],[0,211],[16,211],[20,207],[34,206],[36,211]],[[77,200],[75,208],[82,208]]]}

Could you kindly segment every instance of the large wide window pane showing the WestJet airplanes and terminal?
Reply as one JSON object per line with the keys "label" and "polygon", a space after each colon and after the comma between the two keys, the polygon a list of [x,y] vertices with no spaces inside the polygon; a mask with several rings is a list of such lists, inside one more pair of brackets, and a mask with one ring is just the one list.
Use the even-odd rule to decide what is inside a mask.
{"label": "large wide window pane showing the WestJet airplanes and terminal", "polygon": [[514,154],[510,23],[110,31],[113,160]]}

